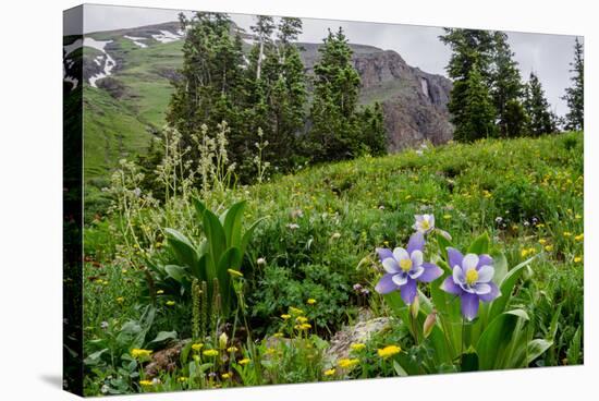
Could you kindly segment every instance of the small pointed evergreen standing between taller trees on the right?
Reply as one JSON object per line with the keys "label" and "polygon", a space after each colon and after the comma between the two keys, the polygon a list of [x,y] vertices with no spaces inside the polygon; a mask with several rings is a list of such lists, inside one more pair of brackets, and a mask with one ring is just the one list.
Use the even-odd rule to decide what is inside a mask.
{"label": "small pointed evergreen standing between taller trees on the right", "polygon": [[534,136],[549,134],[555,131],[555,117],[549,110],[549,102],[545,97],[545,90],[535,73],[526,85],[524,108],[528,114],[528,133]]}

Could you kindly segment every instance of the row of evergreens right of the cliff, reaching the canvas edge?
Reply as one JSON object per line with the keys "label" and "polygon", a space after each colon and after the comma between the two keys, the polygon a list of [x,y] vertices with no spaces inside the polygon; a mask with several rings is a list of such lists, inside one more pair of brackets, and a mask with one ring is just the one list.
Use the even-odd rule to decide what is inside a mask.
{"label": "row of evergreens right of the cliff, reaching the canvas edge", "polygon": [[453,80],[448,108],[456,141],[539,136],[559,126],[583,130],[584,57],[577,38],[571,63],[573,85],[563,97],[570,111],[563,119],[550,110],[535,72],[527,82],[522,80],[505,33],[445,28],[439,38],[452,49],[447,66]]}

